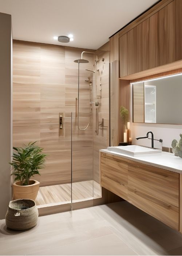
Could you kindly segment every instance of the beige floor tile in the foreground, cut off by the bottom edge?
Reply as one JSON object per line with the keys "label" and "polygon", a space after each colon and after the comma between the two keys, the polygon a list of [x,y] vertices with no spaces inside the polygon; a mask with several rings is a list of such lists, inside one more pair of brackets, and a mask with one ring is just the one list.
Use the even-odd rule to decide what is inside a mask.
{"label": "beige floor tile in the foreground, cut off by the bottom edge", "polygon": [[115,234],[103,236],[69,246],[53,248],[31,255],[137,255]]}

